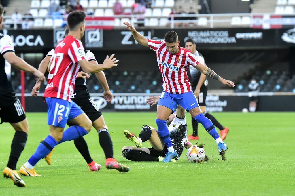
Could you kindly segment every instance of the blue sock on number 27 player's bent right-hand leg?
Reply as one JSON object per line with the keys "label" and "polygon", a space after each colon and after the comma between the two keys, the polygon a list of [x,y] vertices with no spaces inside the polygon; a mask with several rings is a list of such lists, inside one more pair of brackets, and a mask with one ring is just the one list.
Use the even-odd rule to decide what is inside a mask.
{"label": "blue sock on number 27 player's bent right-hand leg", "polygon": [[77,139],[86,134],[88,134],[88,132],[86,131],[84,127],[81,127],[78,125],[70,126],[68,129],[63,131],[63,139],[61,139],[60,142],[58,142],[58,144],[64,141],[71,141],[71,140]]}

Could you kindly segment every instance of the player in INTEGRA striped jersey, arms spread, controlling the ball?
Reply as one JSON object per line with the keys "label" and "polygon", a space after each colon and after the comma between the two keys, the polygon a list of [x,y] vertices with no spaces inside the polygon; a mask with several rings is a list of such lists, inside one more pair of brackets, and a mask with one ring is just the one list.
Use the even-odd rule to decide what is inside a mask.
{"label": "player in INTEGRA striped jersey, arms spread, controlling the ball", "polygon": [[[165,34],[165,40],[151,40],[138,33],[130,23],[124,22],[123,24],[126,25],[126,29],[132,32],[134,39],[138,43],[150,47],[150,49],[156,52],[164,88],[158,102],[156,123],[158,134],[168,149],[163,162],[170,162],[172,158],[177,156],[176,150],[171,143],[166,120],[171,112],[175,112],[178,104],[189,111],[191,116],[204,126],[208,133],[215,139],[219,154],[223,155],[224,151],[227,150],[227,145],[219,137],[213,123],[204,116],[199,107],[188,78],[189,66],[194,66],[206,76],[219,80],[221,83],[230,87],[234,87],[234,83],[230,80],[224,80],[209,67],[202,65],[198,57],[195,57],[191,51],[179,47],[180,41],[176,32],[168,31]],[[138,141],[138,143],[140,144],[141,142]],[[136,146],[138,147],[140,145]]]}

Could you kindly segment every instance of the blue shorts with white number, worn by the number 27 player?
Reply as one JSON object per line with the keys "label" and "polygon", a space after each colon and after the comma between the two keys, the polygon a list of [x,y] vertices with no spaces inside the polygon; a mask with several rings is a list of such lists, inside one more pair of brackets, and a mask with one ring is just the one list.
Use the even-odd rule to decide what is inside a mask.
{"label": "blue shorts with white number, worn by the number 27 player", "polygon": [[48,125],[65,127],[68,120],[71,120],[84,111],[75,103],[60,98],[46,97]]}

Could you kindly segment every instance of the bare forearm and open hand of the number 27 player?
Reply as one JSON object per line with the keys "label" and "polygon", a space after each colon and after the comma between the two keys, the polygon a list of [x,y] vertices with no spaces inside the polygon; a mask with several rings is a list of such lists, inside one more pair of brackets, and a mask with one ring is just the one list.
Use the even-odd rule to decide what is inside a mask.
{"label": "bare forearm and open hand of the number 27 player", "polygon": [[115,54],[112,54],[110,57],[109,55],[106,56],[106,59],[102,64],[93,64],[86,59],[82,59],[78,61],[78,64],[82,67],[83,71],[87,73],[97,73],[105,69],[110,69],[112,67],[116,67],[119,60],[114,58]]}

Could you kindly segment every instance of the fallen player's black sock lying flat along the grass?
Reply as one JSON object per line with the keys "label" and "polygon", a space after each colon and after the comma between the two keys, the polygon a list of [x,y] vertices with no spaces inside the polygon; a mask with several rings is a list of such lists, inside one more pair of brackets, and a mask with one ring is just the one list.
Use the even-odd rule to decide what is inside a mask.
{"label": "fallen player's black sock lying flat along the grass", "polygon": [[159,157],[151,156],[143,150],[124,149],[122,156],[130,161],[159,161]]}

